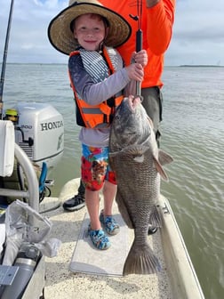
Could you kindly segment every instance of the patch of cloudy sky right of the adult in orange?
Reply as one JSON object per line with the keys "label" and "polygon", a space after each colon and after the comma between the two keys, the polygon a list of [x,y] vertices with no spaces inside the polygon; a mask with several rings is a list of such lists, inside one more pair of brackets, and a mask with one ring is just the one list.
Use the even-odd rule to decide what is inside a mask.
{"label": "patch of cloudy sky right of the adult in orange", "polygon": [[178,1],[166,64],[224,65],[224,2]]}

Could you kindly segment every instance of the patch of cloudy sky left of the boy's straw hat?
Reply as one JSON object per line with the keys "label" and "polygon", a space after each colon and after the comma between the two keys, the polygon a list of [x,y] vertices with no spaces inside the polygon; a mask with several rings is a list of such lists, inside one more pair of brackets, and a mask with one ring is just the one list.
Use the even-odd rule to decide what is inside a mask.
{"label": "patch of cloudy sky left of the boy's straw hat", "polygon": [[[57,53],[52,48],[47,28],[50,20],[62,9],[68,6],[68,1],[57,0],[14,0],[12,26],[8,45],[8,62],[40,62],[66,63],[68,57]],[[1,0],[0,45],[4,52],[10,4]]]}

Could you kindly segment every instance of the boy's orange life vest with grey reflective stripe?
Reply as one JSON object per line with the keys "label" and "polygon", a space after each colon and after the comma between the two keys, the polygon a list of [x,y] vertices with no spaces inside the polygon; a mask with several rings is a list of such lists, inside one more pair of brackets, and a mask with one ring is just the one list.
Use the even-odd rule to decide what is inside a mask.
{"label": "boy's orange life vest with grey reflective stripe", "polygon": [[[80,54],[80,52],[74,51],[70,53],[70,57],[77,54]],[[108,64],[109,75],[114,74],[116,69],[113,66],[106,47],[103,47],[103,56]],[[68,75],[76,101],[76,124],[92,129],[108,127],[113,120],[115,109],[120,105],[121,101],[123,101],[124,95],[122,93],[117,93],[114,97],[101,102],[99,105],[89,105],[78,96],[78,93],[76,93],[76,87],[72,82],[69,71]]]}

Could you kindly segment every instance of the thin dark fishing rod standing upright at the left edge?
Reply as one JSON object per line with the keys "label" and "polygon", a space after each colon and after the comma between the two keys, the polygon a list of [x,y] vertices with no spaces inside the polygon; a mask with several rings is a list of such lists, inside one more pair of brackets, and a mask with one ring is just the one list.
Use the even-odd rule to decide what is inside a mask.
{"label": "thin dark fishing rod standing upright at the left edge", "polygon": [[9,20],[8,20],[8,26],[7,26],[7,31],[6,31],[5,43],[4,43],[4,56],[3,56],[2,73],[1,73],[1,79],[0,79],[0,119],[3,119],[4,73],[5,73],[7,52],[8,52],[9,35],[10,35],[10,29],[11,29],[11,23],[12,23],[13,4],[14,4],[14,0],[11,1]]}

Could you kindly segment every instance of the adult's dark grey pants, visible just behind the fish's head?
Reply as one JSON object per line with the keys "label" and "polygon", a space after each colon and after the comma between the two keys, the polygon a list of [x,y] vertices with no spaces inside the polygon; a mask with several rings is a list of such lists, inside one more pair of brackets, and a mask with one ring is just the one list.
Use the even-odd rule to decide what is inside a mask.
{"label": "adult's dark grey pants, visible just behind the fish's head", "polygon": [[148,87],[141,89],[141,95],[143,97],[142,105],[153,121],[154,131],[156,133],[156,141],[159,145],[159,138],[161,136],[160,132],[160,122],[162,121],[163,112],[163,94],[159,87]]}

